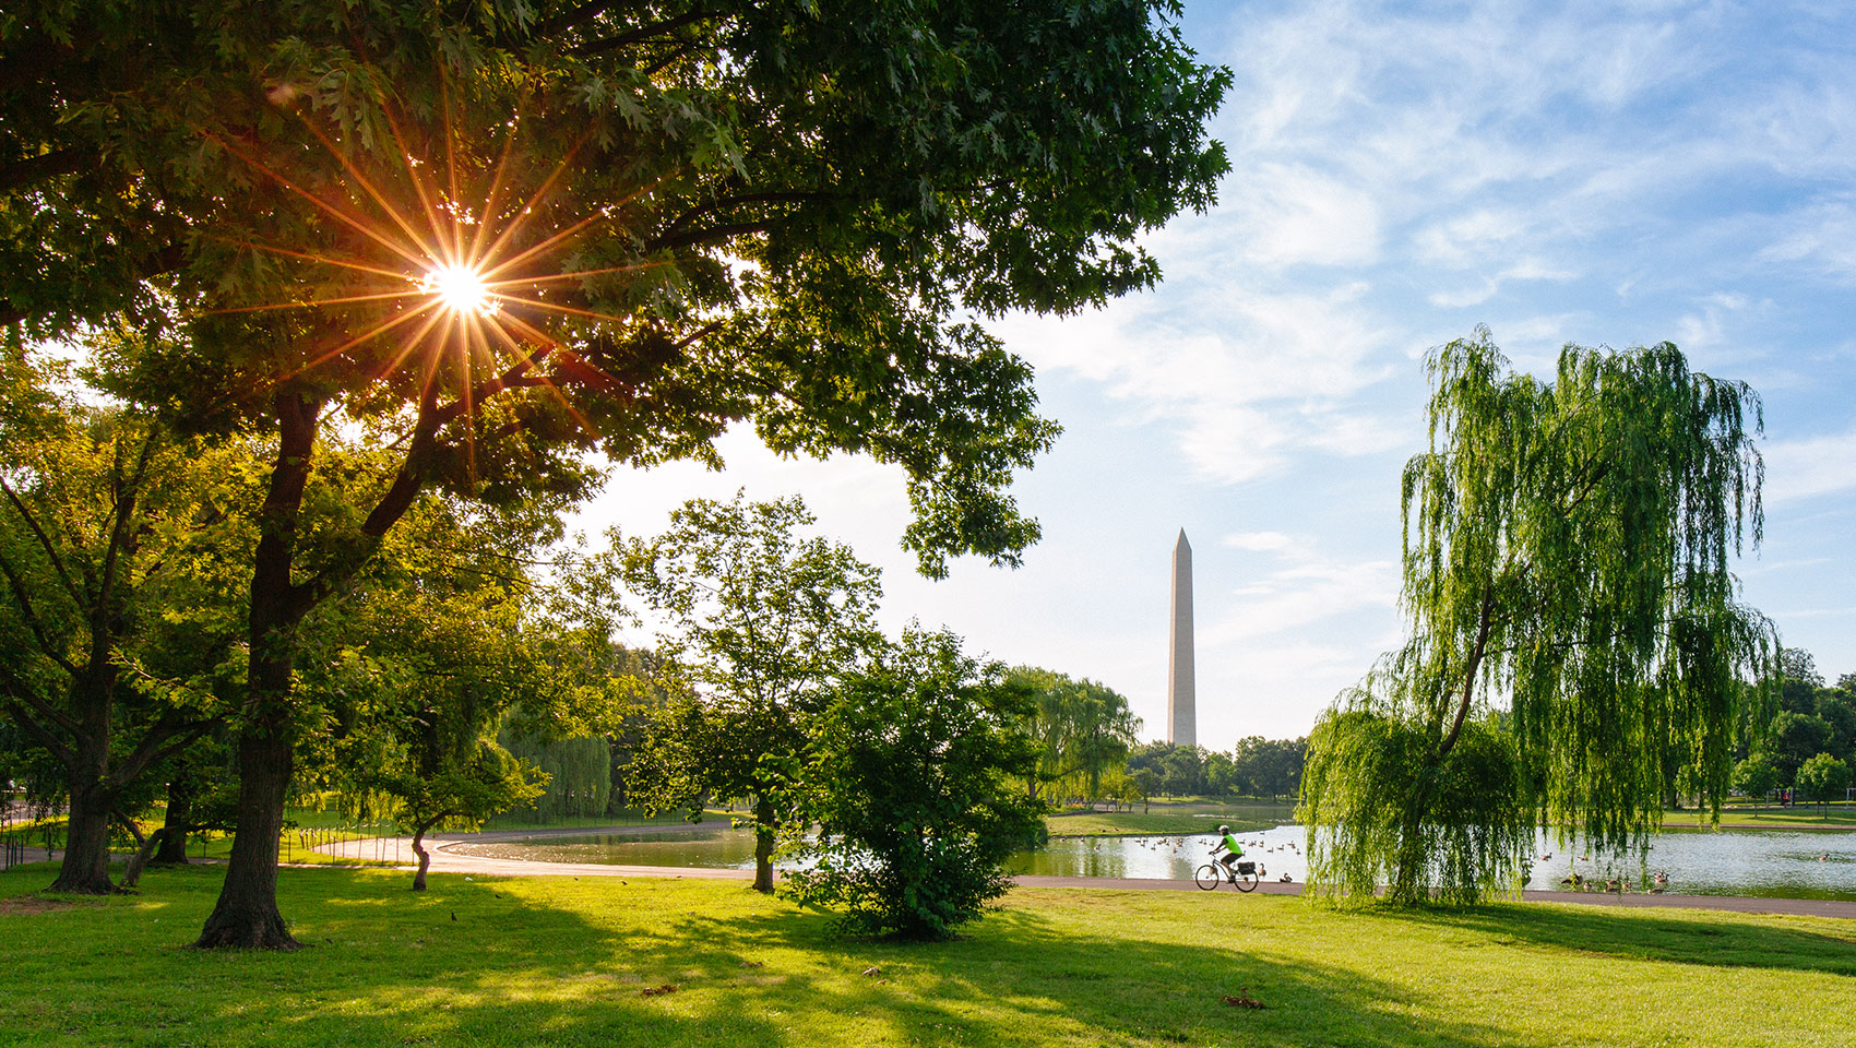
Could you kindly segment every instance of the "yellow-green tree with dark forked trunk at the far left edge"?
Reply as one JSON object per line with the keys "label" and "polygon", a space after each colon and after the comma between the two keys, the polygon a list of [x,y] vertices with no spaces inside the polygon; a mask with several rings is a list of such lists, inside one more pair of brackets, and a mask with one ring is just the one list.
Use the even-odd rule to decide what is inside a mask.
{"label": "yellow-green tree with dark forked trunk at the far left edge", "polygon": [[50,890],[104,894],[111,822],[217,723],[215,677],[241,662],[234,631],[200,627],[230,599],[197,575],[243,492],[225,443],[95,406],[71,378],[0,356],[0,716],[61,770]]}

